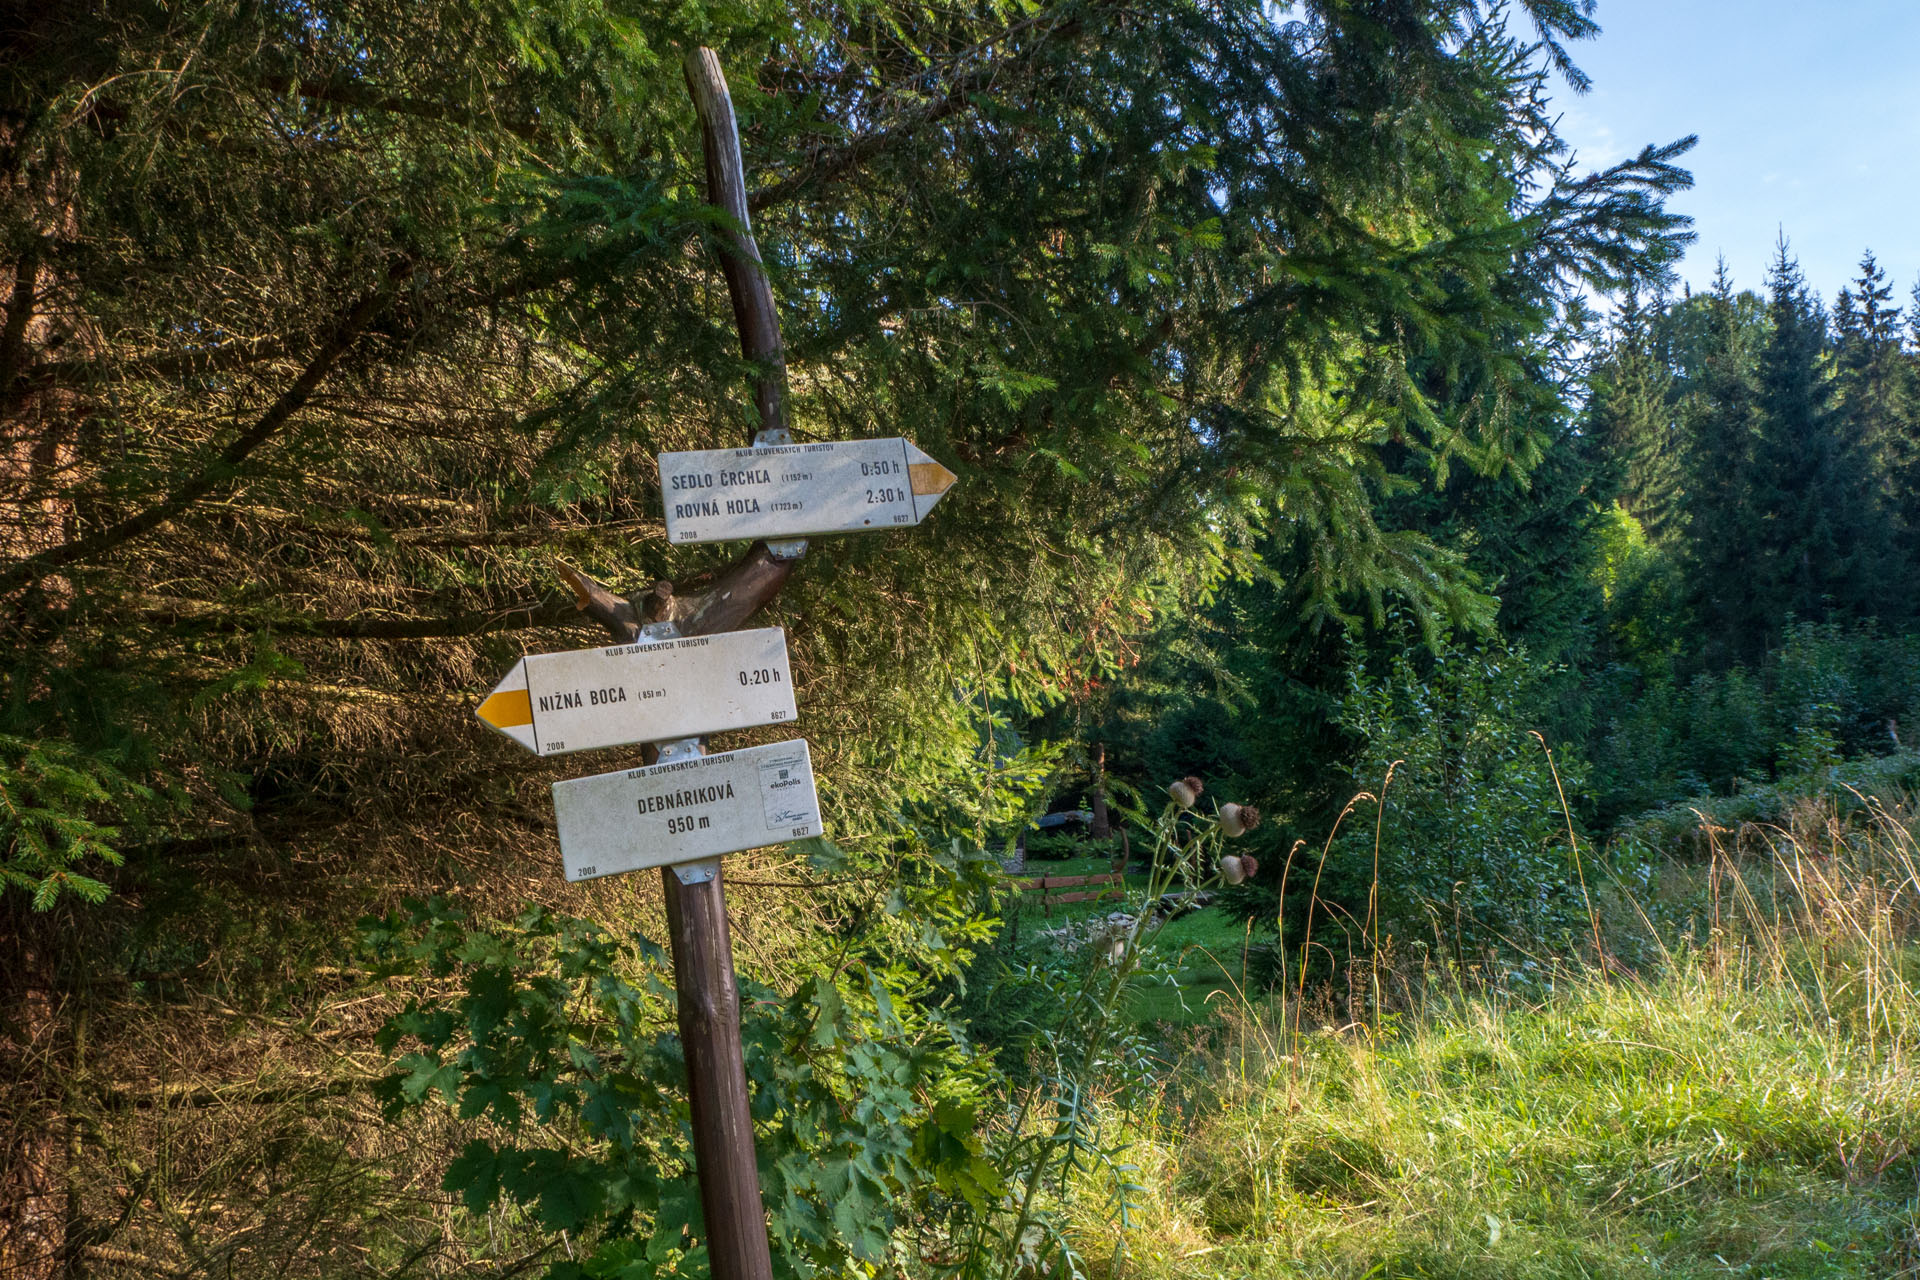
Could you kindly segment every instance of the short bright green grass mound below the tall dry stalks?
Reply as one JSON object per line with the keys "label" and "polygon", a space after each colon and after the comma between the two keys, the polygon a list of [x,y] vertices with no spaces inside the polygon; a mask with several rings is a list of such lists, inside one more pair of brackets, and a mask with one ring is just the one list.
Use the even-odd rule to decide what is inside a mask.
{"label": "short bright green grass mound below the tall dry stalks", "polygon": [[1699,963],[1540,1007],[1450,1002],[1379,1046],[1296,1042],[1242,1006],[1139,1134],[1123,1270],[1920,1274],[1920,1071],[1822,1023]]}

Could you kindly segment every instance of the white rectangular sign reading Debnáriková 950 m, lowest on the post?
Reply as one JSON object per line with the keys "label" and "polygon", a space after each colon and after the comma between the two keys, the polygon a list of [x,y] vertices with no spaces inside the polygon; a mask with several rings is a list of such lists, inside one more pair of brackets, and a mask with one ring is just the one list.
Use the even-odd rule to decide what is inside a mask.
{"label": "white rectangular sign reading Debn\u00e1rikov\u00e1 950 m, lowest on the post", "polygon": [[553,783],[553,816],[570,881],[820,835],[804,741]]}

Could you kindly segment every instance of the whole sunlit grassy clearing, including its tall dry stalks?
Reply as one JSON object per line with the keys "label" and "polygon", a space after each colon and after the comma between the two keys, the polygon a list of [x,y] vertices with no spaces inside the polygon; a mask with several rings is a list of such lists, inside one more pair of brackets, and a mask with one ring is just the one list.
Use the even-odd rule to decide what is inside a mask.
{"label": "whole sunlit grassy clearing, including its tall dry stalks", "polygon": [[1521,1000],[1427,971],[1346,1034],[1217,1000],[1131,1132],[1131,1228],[1087,1196],[1085,1255],[1142,1280],[1920,1276],[1914,823],[1812,816],[1716,856],[1707,913],[1670,912],[1707,931],[1651,938],[1657,975],[1567,961]]}

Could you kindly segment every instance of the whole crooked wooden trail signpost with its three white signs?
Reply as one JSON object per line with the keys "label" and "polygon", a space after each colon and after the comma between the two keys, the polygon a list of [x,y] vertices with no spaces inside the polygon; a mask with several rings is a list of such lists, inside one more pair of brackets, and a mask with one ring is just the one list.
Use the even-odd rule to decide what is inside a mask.
{"label": "whole crooked wooden trail signpost with its three white signs", "polygon": [[660,497],[670,543],[756,541],[693,599],[670,581],[620,597],[561,566],[580,610],[614,643],[522,658],[476,716],[538,756],[636,743],[655,756],[553,785],[561,860],[570,881],[660,867],[710,1274],[772,1280],[720,854],[824,827],[803,739],[707,754],[701,737],[795,720],[785,631],[735,628],[780,595],[803,539],[920,524],[954,474],[899,438],[793,441],[774,292],[718,56],[689,50],[685,77],[708,198],[728,217],[720,267],[741,353],[760,368],[760,432],[747,449],[659,455]]}

